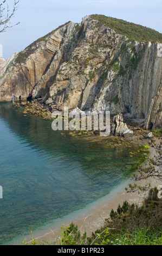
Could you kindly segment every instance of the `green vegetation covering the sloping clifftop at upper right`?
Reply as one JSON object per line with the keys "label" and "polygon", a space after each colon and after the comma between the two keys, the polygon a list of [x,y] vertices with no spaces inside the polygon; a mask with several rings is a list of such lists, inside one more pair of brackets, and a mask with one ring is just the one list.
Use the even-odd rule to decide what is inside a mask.
{"label": "green vegetation covering the sloping clifftop at upper right", "polygon": [[93,20],[98,20],[99,25],[105,24],[109,28],[112,28],[116,33],[126,35],[131,40],[162,43],[162,34],[154,29],[137,25],[132,22],[107,17],[105,15],[94,14],[90,15],[90,17]]}

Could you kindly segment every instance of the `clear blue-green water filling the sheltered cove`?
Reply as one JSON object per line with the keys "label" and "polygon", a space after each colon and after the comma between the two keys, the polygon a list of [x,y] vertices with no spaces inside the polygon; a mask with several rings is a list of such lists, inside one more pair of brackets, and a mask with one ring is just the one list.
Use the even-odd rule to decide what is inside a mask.
{"label": "clear blue-green water filling the sheltered cove", "polygon": [[131,148],[54,132],[51,121],[0,104],[0,243],[85,208],[129,178]]}

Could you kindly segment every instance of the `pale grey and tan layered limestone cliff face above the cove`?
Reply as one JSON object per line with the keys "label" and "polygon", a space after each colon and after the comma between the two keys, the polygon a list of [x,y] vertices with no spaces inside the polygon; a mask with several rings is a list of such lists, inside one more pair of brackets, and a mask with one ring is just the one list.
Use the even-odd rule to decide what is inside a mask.
{"label": "pale grey and tan layered limestone cliff face above the cove", "polygon": [[0,101],[42,97],[70,109],[111,111],[162,125],[158,42],[131,41],[97,20],[68,22],[11,60],[0,60]]}

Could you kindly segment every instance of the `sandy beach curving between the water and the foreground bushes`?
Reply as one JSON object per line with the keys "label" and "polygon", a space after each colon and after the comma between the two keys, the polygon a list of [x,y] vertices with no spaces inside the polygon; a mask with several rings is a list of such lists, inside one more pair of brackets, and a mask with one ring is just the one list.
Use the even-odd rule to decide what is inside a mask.
{"label": "sandy beach curving between the water and the foreground bushes", "polygon": [[[155,161],[158,161],[160,159],[160,155],[159,153],[157,153],[157,151],[158,149],[161,149],[161,145],[162,139],[154,138],[154,142],[150,147],[150,159],[154,159]],[[159,164],[159,162],[157,165],[153,166],[157,170],[161,170],[161,164]],[[147,160],[143,164],[142,168],[147,168],[148,166],[150,166],[149,160]],[[130,182],[127,182],[127,186],[125,187],[128,188],[129,183]],[[147,179],[139,179],[137,181],[132,179],[131,184],[133,185],[134,183],[137,184],[137,186],[141,187],[148,186],[148,184],[151,184],[151,187],[162,185],[162,181],[159,178],[153,177],[149,177]],[[128,192],[125,190],[125,187],[124,185],[122,185],[122,187],[119,190],[115,190],[111,196],[103,198],[102,202],[100,202],[99,205],[96,203],[95,207],[93,206],[91,209],[88,209],[89,214],[88,211],[86,211],[85,209],[85,214],[87,212],[87,215],[80,218],[79,220],[75,221],[76,216],[74,215],[71,222],[74,222],[76,225],[78,225],[81,233],[84,233],[86,230],[87,235],[90,236],[92,232],[94,232],[96,229],[101,228],[104,225],[105,218],[109,217],[112,209],[116,210],[116,208],[118,208],[118,205],[122,205],[125,200],[127,200],[127,202],[129,202],[130,204],[135,203],[140,205],[142,204],[144,198],[147,197],[149,191],[148,189],[146,191],[137,190]],[[68,222],[69,220],[66,221],[62,219],[61,221],[62,224],[64,223],[66,227],[68,227],[68,225],[71,223]],[[42,241],[57,241],[61,235],[61,227],[62,225],[60,225],[60,228],[56,229],[49,228],[49,233],[41,235],[40,237],[34,237],[34,239],[36,239],[36,242],[38,244],[41,244]]]}

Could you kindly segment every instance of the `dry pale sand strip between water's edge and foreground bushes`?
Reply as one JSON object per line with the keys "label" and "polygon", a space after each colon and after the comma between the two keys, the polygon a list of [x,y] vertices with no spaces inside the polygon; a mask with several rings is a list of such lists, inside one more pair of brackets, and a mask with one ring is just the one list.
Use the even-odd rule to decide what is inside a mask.
{"label": "dry pale sand strip between water's edge and foreground bushes", "polygon": [[[161,141],[162,141],[161,139],[160,141],[157,140],[155,144],[157,143],[160,144]],[[156,152],[155,149],[151,147],[151,156],[150,156],[151,158],[154,157],[155,152]],[[146,162],[143,167],[144,168],[148,167],[148,162]],[[134,184],[134,182],[141,187],[148,184],[151,184],[151,187],[162,185],[161,180],[154,179],[154,178],[147,178],[146,180],[132,181],[131,183]],[[127,187],[129,183],[130,182],[127,183]],[[115,192],[115,194],[112,197],[109,197],[109,199],[105,200],[105,203],[102,202],[102,206],[100,205],[99,209],[96,209],[98,208],[98,205],[96,203],[96,208],[95,208],[96,210],[93,210],[93,212],[88,214],[86,217],[81,218],[80,220],[75,221],[75,218],[72,219],[69,223],[66,223],[66,227],[68,227],[68,225],[73,221],[75,224],[78,225],[82,234],[86,230],[87,235],[90,236],[92,232],[94,232],[96,229],[101,228],[104,225],[105,218],[109,217],[109,214],[112,209],[116,210],[118,208],[118,205],[119,204],[122,205],[122,203],[124,203],[125,200],[127,200],[127,202],[129,202],[130,204],[136,203],[140,205],[144,201],[144,198],[147,197],[147,194],[148,194],[148,191],[142,192],[140,190],[137,192],[127,193],[125,188],[122,187],[120,191]],[[64,223],[64,220],[62,220],[62,224],[63,223]],[[61,235],[60,231],[61,231],[61,226],[60,228],[55,230],[49,229],[49,233],[42,235],[40,237],[37,237],[36,242],[41,243],[41,241],[43,240],[48,242],[54,242],[60,237]]]}

